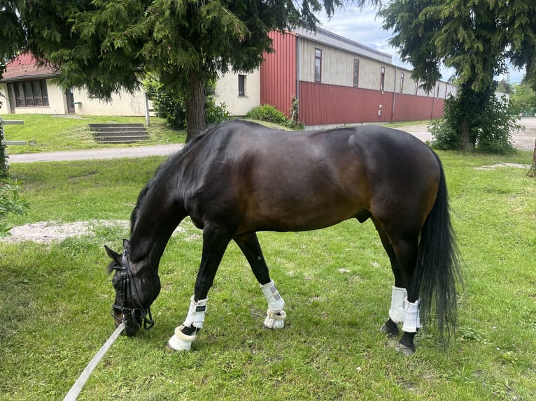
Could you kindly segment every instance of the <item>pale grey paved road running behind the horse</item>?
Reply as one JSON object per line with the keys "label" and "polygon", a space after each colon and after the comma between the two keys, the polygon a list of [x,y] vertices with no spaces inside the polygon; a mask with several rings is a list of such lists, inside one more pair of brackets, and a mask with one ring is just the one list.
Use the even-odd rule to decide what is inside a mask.
{"label": "pale grey paved road running behind the horse", "polygon": [[[520,150],[533,150],[536,140],[536,117],[523,117],[521,124],[526,131],[513,134],[514,145]],[[426,124],[397,126],[397,129],[407,131],[421,140],[431,140],[432,136]],[[10,154],[10,163],[31,163],[34,161],[67,161],[67,160],[93,160],[93,159],[120,159],[143,156],[167,156],[183,147],[181,144],[148,145],[140,147],[114,147],[113,149],[77,150],[73,152],[42,152],[27,154]]]}

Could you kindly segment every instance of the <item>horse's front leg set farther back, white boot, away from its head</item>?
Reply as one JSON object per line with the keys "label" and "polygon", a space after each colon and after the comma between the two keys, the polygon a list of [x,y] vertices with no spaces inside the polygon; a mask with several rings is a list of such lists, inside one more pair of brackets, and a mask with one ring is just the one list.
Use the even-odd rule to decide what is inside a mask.
{"label": "horse's front leg set farther back, white boot, away from its head", "polygon": [[274,281],[270,279],[268,266],[266,265],[265,257],[262,256],[257,234],[248,233],[234,237],[234,241],[240,247],[241,251],[246,256],[251,270],[260,284],[260,289],[265,295],[268,302],[268,311],[265,319],[267,328],[283,328],[285,326],[285,301],[279,295]]}

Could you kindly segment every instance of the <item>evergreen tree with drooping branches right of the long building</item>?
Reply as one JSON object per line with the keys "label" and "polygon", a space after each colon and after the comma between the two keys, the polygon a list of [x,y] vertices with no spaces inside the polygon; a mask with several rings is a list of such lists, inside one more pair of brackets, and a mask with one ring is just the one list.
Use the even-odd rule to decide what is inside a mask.
{"label": "evergreen tree with drooping branches right of the long building", "polygon": [[536,1],[393,0],[381,10],[383,27],[393,29],[391,45],[414,66],[413,77],[432,89],[441,64],[456,69],[459,147],[474,149],[482,115],[493,103],[495,75],[507,61],[526,68],[536,87]]}

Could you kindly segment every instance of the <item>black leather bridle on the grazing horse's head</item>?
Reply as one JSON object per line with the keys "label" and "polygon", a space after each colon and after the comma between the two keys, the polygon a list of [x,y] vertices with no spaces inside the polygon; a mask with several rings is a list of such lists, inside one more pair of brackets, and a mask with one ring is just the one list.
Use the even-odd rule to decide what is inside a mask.
{"label": "black leather bridle on the grazing horse's head", "polygon": [[[112,305],[112,316],[118,321],[125,323],[127,327],[134,326],[136,330],[140,328],[142,321],[145,330],[153,328],[155,326],[153,315],[150,313],[150,307],[145,308],[141,305],[138,288],[136,287],[134,276],[127,261],[127,251],[123,253],[121,265],[115,265],[113,268],[120,272],[119,294],[121,305],[116,303]],[[134,304],[133,308],[125,307],[127,300],[132,300]],[[119,317],[119,314],[121,314],[121,317]],[[125,319],[125,315],[129,315],[130,319]]]}

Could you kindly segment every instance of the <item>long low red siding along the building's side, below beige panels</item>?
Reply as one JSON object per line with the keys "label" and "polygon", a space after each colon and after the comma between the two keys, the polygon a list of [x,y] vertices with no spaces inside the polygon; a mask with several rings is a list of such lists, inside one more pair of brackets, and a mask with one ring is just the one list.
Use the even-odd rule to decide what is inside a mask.
{"label": "long low red siding along the building's side, below beige panels", "polygon": [[443,99],[397,94],[393,114],[393,92],[299,82],[299,121],[305,125],[437,118],[443,115],[443,103]]}

